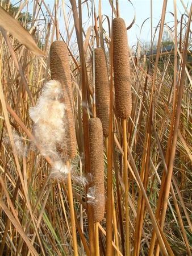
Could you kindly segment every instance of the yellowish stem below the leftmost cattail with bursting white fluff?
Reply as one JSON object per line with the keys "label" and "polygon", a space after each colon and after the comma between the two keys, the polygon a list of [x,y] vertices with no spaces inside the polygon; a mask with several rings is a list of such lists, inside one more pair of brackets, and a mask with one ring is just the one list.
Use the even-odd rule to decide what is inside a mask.
{"label": "yellowish stem below the leftmost cattail with bursting white fluff", "polygon": [[[66,162],[67,166],[70,167],[69,161]],[[72,222],[72,237],[73,237],[73,255],[78,256],[77,250],[77,237],[76,237],[76,222],[74,218],[74,207],[73,207],[73,191],[72,191],[72,179],[71,174],[68,174],[68,199],[69,199],[69,209],[70,209],[70,220]]]}

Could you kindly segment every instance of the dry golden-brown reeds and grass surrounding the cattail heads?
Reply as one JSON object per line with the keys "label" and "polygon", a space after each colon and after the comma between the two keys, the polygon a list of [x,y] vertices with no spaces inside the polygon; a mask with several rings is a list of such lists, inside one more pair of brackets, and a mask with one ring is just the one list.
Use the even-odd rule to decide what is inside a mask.
{"label": "dry golden-brown reeds and grass surrounding the cattail heads", "polygon": [[[179,20],[182,30],[177,31],[178,10],[174,2],[174,27],[169,30],[174,57],[169,54],[163,57],[160,53],[166,28],[166,24],[163,26],[166,1],[162,6],[162,23],[156,32],[155,59],[143,56],[145,49],[139,42],[136,53],[129,51],[132,112],[130,118],[121,123],[113,100],[115,42],[111,18],[102,16],[101,5],[99,13],[94,13],[93,6],[87,1],[77,6],[76,1],[70,0],[69,13],[66,13],[65,4],[57,6],[57,1],[55,10],[49,10],[46,1],[41,5],[40,1],[32,2],[32,26],[37,28],[37,31],[30,28],[32,36],[27,33],[22,41],[20,35],[16,36],[16,31],[22,33],[22,28],[20,32],[19,27],[14,32],[9,30],[9,26],[14,28],[16,23],[0,23],[13,33],[2,30],[0,34],[0,255],[73,255],[74,225],[79,255],[112,255],[112,252],[134,256],[190,255],[191,69],[186,57],[191,39],[191,9],[186,8],[186,15]],[[113,2],[109,2],[112,6]],[[19,12],[24,10],[24,5],[27,2],[21,1]],[[85,6],[90,14],[86,19],[82,17]],[[118,6],[114,4],[113,10],[116,18]],[[60,19],[55,19],[60,11],[64,33],[59,30]],[[14,15],[19,19],[19,13]],[[43,21],[39,20],[39,15],[44,17]],[[87,19],[93,22],[94,30],[85,23]],[[31,24],[26,20],[23,19],[22,26],[29,29]],[[109,25],[110,31],[105,31],[103,23]],[[37,25],[41,29],[38,30]],[[66,73],[62,68],[55,70],[62,81],[66,77],[72,81],[71,110],[77,139],[77,155],[71,163],[72,188],[70,176],[60,180],[51,178],[52,159],[40,154],[41,146],[32,135],[34,123],[29,114],[44,82],[51,79],[57,65],[58,52],[58,56],[51,60],[50,72],[49,50],[55,36],[65,40],[62,53],[65,51],[65,55],[69,55],[70,63],[70,69],[66,71],[64,68]],[[41,51],[34,46],[32,37]],[[181,39],[179,44],[177,38]],[[97,225],[94,225],[93,207],[86,203],[91,185],[90,159],[93,158],[89,145],[92,139],[89,138],[89,119],[97,113],[94,84],[98,81],[98,73],[95,80],[97,69],[93,67],[93,47],[105,49],[108,65],[105,82],[110,81],[106,101],[108,129],[105,127],[108,137],[103,139],[102,155],[106,210]],[[42,51],[44,56],[37,57]],[[97,50],[95,54],[97,57]],[[97,68],[98,60],[95,65]],[[98,160],[95,164],[99,167],[101,163]],[[124,175],[125,168],[127,175]]]}

